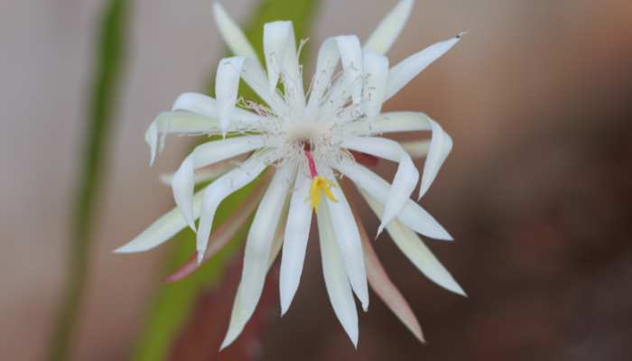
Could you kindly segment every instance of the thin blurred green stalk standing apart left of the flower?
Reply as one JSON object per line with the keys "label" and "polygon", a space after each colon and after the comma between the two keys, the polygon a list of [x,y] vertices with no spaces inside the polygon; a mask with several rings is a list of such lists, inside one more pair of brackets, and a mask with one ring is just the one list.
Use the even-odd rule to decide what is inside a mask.
{"label": "thin blurred green stalk standing apart left of the flower", "polygon": [[95,206],[98,203],[99,181],[102,178],[104,154],[112,127],[116,103],[116,84],[125,56],[127,25],[131,2],[109,0],[98,24],[94,83],[88,107],[88,133],[85,158],[80,167],[78,192],[75,195],[70,234],[70,260],[60,310],[51,333],[48,359],[70,359],[71,345],[79,320],[91,245]]}

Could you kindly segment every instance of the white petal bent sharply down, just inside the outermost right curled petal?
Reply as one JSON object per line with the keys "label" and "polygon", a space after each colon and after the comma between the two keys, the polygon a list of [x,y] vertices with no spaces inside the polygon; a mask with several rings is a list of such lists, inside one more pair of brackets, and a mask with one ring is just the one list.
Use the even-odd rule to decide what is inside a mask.
{"label": "white petal bent sharply down, just inside the outermost right curled petal", "polygon": [[384,227],[395,219],[406,205],[419,180],[419,171],[417,171],[413,160],[410,155],[404,151],[404,148],[402,148],[399,143],[390,139],[353,137],[345,140],[342,146],[399,163],[395,178],[393,179],[393,185],[390,187],[389,194],[386,198],[385,217],[381,218],[381,224],[377,229],[377,235],[379,236]]}

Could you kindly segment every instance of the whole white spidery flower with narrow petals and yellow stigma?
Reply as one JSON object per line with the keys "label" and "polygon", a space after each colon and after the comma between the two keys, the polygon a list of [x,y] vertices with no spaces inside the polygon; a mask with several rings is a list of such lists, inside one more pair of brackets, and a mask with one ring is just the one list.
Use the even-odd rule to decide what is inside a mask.
{"label": "whole white spidery flower with narrow petals and yellow stigma", "polygon": [[[412,0],[397,5],[364,46],[355,35],[323,42],[307,91],[291,22],[265,24],[266,74],[244,33],[220,5],[214,5],[219,32],[236,54],[219,62],[217,98],[181,95],[172,112],[163,113],[150,125],[145,139],[151,146],[153,162],[167,134],[223,137],[198,146],[173,174],[170,181],[178,207],[116,252],[148,250],[188,225],[197,232],[201,262],[205,255],[225,245],[256,208],[222,347],[237,338],[256,309],[265,274],[282,246],[282,314],[288,309],[301,277],[314,210],[327,292],[354,345],[358,342],[358,315],[353,294],[367,310],[367,281],[406,327],[423,340],[413,312],[379,264],[337,175],[354,183],[380,218],[378,234],[386,228],[422,273],[442,287],[463,294],[417,234],[441,240],[451,240],[451,236],[410,199],[420,178],[413,158],[426,157],[418,190],[421,198],[450,153],[451,138],[422,113],[381,113],[386,100],[460,40],[458,35],[436,43],[389,67],[384,53],[402,30],[412,5]],[[341,71],[337,73],[339,63]],[[265,105],[237,101],[240,79]],[[283,83],[283,92],[277,87],[279,82]],[[432,140],[402,145],[381,137],[410,131],[431,131]],[[391,184],[356,162],[351,152],[396,162],[398,168]],[[241,212],[213,232],[213,218],[222,200],[263,173],[264,187],[255,190]],[[204,190],[193,194],[197,181],[216,177]],[[191,267],[185,273],[190,271]]]}

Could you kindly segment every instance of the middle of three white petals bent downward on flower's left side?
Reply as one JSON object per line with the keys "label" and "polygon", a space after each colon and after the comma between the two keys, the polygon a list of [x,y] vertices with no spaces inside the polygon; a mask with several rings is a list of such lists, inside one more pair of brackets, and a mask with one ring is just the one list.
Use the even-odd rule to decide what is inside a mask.
{"label": "middle of three white petals bent downward on flower's left side", "polygon": [[182,210],[189,227],[195,230],[192,218],[191,197],[195,187],[194,171],[236,155],[252,152],[264,145],[261,135],[240,136],[197,146],[173,174],[172,190],[175,203]]}

